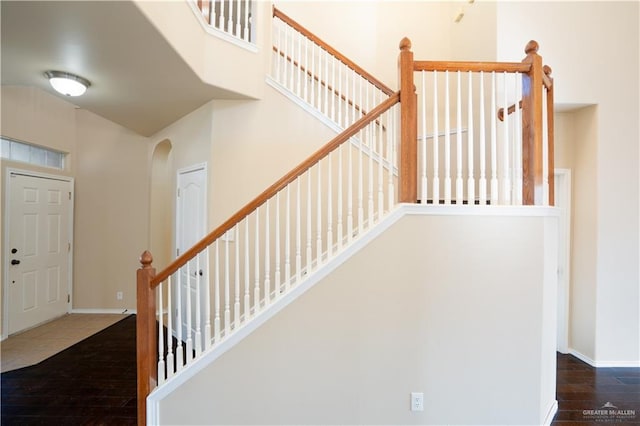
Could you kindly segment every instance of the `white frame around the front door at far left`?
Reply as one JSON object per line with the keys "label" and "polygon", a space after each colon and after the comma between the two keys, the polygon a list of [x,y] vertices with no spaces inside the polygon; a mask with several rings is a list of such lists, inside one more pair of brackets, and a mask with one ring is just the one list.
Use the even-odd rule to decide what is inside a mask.
{"label": "white frame around the front door at far left", "polygon": [[69,208],[69,241],[71,242],[71,250],[69,250],[69,263],[68,263],[68,268],[69,268],[69,274],[68,274],[68,283],[67,283],[67,292],[69,294],[69,303],[67,304],[67,313],[71,312],[71,306],[73,306],[73,247],[74,247],[74,240],[73,240],[73,212],[74,212],[74,200],[75,200],[75,185],[74,185],[74,178],[70,177],[70,176],[63,176],[63,175],[54,175],[54,174],[47,174],[47,173],[41,173],[41,172],[34,172],[31,170],[23,170],[23,169],[16,169],[16,168],[7,168],[6,171],[6,176],[5,176],[5,191],[4,191],[4,208],[5,208],[5,215],[4,215],[4,223],[2,224],[2,226],[4,227],[3,229],[3,235],[4,235],[4,247],[5,250],[2,253],[2,258],[3,258],[3,262],[2,262],[2,269],[3,269],[3,274],[2,274],[2,282],[4,283],[2,286],[2,300],[3,300],[3,304],[2,304],[2,340],[6,339],[7,337],[9,337],[9,258],[11,256],[7,255],[7,248],[9,247],[9,229],[10,229],[10,214],[9,212],[11,211],[11,201],[10,201],[10,194],[11,194],[11,175],[19,175],[19,176],[28,176],[28,177],[35,177],[35,178],[40,178],[40,179],[53,179],[53,180],[59,180],[59,181],[63,181],[63,182],[69,182],[71,185],[70,187],[70,191],[71,191],[71,206]]}

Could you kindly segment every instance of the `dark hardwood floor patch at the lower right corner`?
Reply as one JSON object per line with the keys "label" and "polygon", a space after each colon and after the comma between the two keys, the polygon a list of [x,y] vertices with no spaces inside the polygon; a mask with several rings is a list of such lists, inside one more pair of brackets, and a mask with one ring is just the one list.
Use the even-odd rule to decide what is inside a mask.
{"label": "dark hardwood floor patch at the lower right corner", "polygon": [[558,354],[552,425],[640,424],[640,368],[594,368]]}

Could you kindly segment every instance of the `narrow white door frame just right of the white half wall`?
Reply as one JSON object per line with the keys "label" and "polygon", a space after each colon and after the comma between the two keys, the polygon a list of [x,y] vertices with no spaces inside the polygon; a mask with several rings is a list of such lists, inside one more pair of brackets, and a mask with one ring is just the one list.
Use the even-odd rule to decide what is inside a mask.
{"label": "narrow white door frame just right of the white half wall", "polygon": [[[569,300],[571,297],[571,170],[555,169],[555,201],[560,208],[558,226],[558,316],[557,350],[569,353]],[[560,202],[560,204],[558,203]]]}

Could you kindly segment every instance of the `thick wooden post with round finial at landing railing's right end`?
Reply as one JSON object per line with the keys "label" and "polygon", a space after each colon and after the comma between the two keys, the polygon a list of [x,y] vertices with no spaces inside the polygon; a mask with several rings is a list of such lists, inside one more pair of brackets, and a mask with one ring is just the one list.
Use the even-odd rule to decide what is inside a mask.
{"label": "thick wooden post with round finial at landing railing's right end", "polygon": [[531,64],[531,70],[522,74],[522,203],[542,205],[542,57],[534,40],[525,53],[522,62]]}

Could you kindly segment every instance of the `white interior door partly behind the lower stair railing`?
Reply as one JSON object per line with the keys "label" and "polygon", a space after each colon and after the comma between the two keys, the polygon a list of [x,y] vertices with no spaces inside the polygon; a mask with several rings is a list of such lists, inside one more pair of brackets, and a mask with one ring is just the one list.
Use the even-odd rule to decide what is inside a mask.
{"label": "white interior door partly behind the lower stair railing", "polygon": [[[176,208],[177,255],[200,241],[207,231],[207,168],[200,164],[178,171]],[[176,322],[180,324],[178,338],[190,350],[194,340],[202,336],[205,324],[205,287],[207,280],[203,256],[193,259],[181,269],[180,290],[176,295]],[[180,318],[180,321],[178,321]],[[198,321],[199,320],[199,321]],[[202,339],[202,337],[200,337]],[[199,344],[202,340],[199,341]]]}

